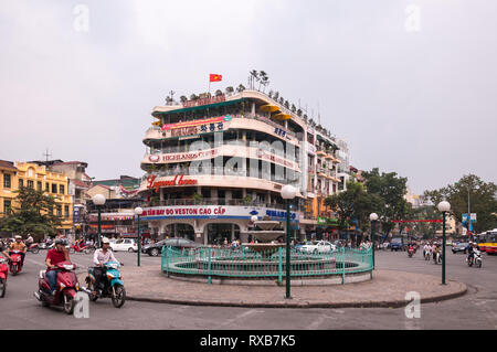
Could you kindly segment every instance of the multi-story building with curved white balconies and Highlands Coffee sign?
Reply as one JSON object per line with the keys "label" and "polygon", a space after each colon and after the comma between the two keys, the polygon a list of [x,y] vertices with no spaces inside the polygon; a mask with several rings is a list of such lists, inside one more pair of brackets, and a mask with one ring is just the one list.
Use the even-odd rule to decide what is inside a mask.
{"label": "multi-story building with curved white balconies and Highlands Coffee sign", "polygon": [[317,224],[318,200],[338,191],[329,134],[261,92],[156,106],[151,115],[139,191],[147,199],[141,220],[159,238],[246,242],[253,215],[284,223],[285,184],[299,191],[290,218],[303,238]]}

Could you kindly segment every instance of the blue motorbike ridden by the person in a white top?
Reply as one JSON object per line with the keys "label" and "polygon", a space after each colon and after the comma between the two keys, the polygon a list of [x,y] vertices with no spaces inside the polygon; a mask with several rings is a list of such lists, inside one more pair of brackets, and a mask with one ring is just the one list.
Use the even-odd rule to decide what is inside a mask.
{"label": "blue motorbike ridden by the person in a white top", "polygon": [[96,291],[96,294],[89,294],[91,301],[96,301],[98,298],[110,297],[114,307],[123,307],[126,301],[126,290],[124,282],[120,279],[118,267],[120,267],[120,264],[117,262],[108,262],[104,264],[103,279],[101,280],[99,287],[95,287],[95,268],[88,268],[88,276],[85,278],[87,290]]}

